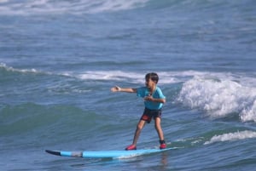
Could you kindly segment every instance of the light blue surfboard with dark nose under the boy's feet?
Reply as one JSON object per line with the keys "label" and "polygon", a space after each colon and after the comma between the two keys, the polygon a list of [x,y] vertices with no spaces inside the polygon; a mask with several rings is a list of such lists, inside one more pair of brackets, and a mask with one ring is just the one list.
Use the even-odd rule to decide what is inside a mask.
{"label": "light blue surfboard with dark nose under the boy's feet", "polygon": [[144,149],[135,151],[49,151],[47,153],[61,157],[84,157],[84,158],[128,158],[137,157],[157,152],[169,151],[176,148]]}

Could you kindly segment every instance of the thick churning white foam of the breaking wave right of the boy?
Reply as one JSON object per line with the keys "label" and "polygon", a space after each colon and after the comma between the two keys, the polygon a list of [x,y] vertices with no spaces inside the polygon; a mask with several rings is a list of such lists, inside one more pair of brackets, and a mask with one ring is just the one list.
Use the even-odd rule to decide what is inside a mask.
{"label": "thick churning white foam of the breaking wave right of the boy", "polygon": [[206,111],[210,117],[226,117],[237,113],[241,121],[255,122],[255,84],[245,84],[230,80],[229,77],[194,77],[183,83],[177,101],[192,109]]}

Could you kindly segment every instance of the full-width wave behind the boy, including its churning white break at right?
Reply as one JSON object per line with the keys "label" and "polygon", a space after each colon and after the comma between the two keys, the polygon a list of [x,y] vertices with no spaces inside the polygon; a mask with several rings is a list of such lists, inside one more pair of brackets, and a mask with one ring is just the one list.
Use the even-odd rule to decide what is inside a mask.
{"label": "full-width wave behind the boy, including its churning white break at right", "polygon": [[[44,77],[44,80],[59,80],[61,89],[67,84],[67,89],[73,89],[70,78],[76,83],[80,81],[96,81],[114,84],[144,84],[144,72],[133,71],[38,71],[36,69],[16,69],[0,64],[0,74],[32,74],[33,77]],[[36,73],[36,75],[34,75]],[[175,91],[176,102],[192,109],[205,111],[212,118],[238,116],[241,122],[256,122],[256,79],[250,73],[226,73],[203,71],[158,71],[159,85],[172,88],[178,84]],[[43,79],[43,78],[42,78]],[[40,78],[41,80],[41,78]],[[44,81],[43,80],[43,81]],[[41,86],[41,84],[40,84]],[[68,88],[72,86],[72,88]],[[84,86],[84,85],[83,85]],[[82,86],[82,87],[83,87]],[[111,85],[113,86],[113,85]],[[121,85],[120,85],[121,86]],[[77,85],[75,86],[77,88]],[[82,87],[78,87],[77,91]],[[84,89],[83,89],[84,90]],[[84,90],[85,91],[85,90]],[[61,91],[62,92],[62,91]]]}

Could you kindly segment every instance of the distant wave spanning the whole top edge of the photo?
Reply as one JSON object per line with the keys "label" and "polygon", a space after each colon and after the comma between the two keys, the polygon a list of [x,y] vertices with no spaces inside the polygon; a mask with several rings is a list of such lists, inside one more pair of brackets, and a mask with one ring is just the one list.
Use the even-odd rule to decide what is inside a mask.
{"label": "distant wave spanning the whole top edge of the photo", "polygon": [[[0,0],[0,14],[96,14],[102,12],[113,12],[129,9],[166,9],[171,8],[172,11],[182,10],[196,12],[202,10],[219,11],[219,9],[233,9],[252,5],[253,0],[246,2],[236,1],[193,1],[193,0]],[[249,8],[250,9],[250,8]],[[251,9],[253,10],[253,8]]]}

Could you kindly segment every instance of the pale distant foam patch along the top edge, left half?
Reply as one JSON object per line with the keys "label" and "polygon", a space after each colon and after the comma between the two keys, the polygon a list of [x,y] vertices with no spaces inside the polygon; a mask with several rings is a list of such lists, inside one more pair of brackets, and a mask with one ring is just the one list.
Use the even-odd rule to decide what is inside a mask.
{"label": "pale distant foam patch along the top edge, left half", "polygon": [[94,14],[104,11],[119,11],[143,7],[148,0],[80,0],[80,1],[50,1],[0,0],[6,5],[0,7],[0,14]]}

